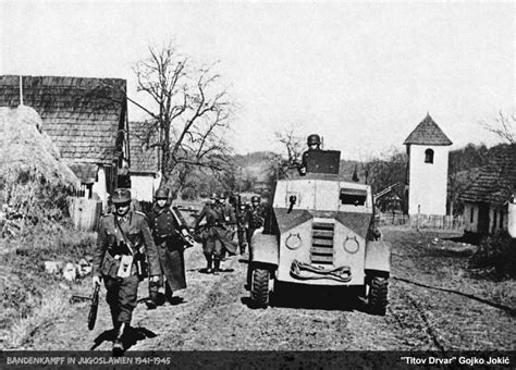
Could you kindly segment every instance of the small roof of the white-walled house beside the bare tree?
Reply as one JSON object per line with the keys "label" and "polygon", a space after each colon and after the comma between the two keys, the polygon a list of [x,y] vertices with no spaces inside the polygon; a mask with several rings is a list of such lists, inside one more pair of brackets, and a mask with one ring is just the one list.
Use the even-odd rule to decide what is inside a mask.
{"label": "small roof of the white-walled house beside the bare tree", "polygon": [[[148,144],[156,143],[156,135],[149,136],[147,122],[130,122],[130,173],[157,174],[158,169],[158,148],[149,148]],[[147,143],[147,144],[146,144]]]}

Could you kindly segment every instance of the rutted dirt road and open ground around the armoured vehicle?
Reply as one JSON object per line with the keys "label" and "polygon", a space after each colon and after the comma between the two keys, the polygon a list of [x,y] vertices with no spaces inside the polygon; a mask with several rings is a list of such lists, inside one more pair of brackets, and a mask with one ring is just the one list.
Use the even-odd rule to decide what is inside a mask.
{"label": "rutted dirt road and open ground around the armoured vehicle", "polygon": [[[385,238],[393,243],[393,276],[503,300],[514,307],[515,297],[494,294],[499,283],[476,279],[465,269],[470,252],[467,246],[435,242],[435,236],[385,231]],[[177,292],[182,300],[176,298],[176,305],[150,311],[139,304],[133,317],[131,350],[516,348],[514,313],[456,294],[391,279],[385,317],[364,312],[342,291],[285,292],[285,287],[290,295],[286,301],[251,309],[244,287],[244,258],[231,257],[223,262],[224,272],[211,275],[199,271],[205,267],[199,246],[185,256],[188,287]],[[88,288],[89,281],[77,287],[84,292]],[[139,295],[148,295],[145,283]],[[35,333],[25,349],[109,350],[111,320],[103,297],[105,293],[94,331],[86,329],[88,304],[74,304],[59,322]]]}

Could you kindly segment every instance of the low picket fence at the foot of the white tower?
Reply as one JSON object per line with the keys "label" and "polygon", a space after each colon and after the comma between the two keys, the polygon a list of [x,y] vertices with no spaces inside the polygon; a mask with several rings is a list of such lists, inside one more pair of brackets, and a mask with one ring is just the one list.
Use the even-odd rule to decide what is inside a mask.
{"label": "low picket fence at the foot of the white tower", "polygon": [[405,226],[415,229],[462,230],[464,217],[438,214],[380,213],[381,226]]}

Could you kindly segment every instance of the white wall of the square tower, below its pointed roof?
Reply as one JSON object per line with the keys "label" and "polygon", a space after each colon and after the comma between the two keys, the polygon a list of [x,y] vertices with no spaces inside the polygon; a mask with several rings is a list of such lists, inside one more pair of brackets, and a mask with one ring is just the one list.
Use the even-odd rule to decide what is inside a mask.
{"label": "white wall of the square tower, below its pointed roof", "polygon": [[[425,151],[433,150],[433,163]],[[410,145],[408,213],[446,214],[449,146]]]}

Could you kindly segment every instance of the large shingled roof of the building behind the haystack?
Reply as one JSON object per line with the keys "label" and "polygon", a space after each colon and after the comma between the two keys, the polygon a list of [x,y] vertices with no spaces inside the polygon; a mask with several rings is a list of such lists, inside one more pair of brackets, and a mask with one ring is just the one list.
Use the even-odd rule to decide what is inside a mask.
{"label": "large shingled roof of the building behind the haystack", "polygon": [[[118,161],[125,130],[125,79],[23,77],[24,104],[38,112],[42,130],[72,162]],[[19,104],[20,77],[0,76],[0,107]]]}

